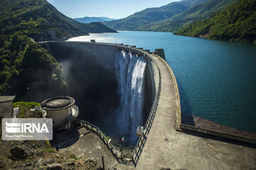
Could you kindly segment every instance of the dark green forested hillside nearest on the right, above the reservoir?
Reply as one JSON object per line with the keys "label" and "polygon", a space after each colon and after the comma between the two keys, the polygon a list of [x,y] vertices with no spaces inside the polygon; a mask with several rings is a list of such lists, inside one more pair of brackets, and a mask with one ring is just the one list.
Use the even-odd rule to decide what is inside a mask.
{"label": "dark green forested hillside nearest on the right, above the reservoir", "polygon": [[256,0],[242,0],[175,34],[256,43]]}

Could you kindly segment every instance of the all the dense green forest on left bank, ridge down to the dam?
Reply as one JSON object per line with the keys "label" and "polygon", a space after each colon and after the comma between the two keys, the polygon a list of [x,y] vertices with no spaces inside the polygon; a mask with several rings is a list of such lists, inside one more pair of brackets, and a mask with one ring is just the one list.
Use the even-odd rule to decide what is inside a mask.
{"label": "all the dense green forest on left bank, ridge down to the dam", "polygon": [[55,94],[65,90],[61,65],[40,44],[31,41],[115,32],[102,23],[79,23],[45,0],[0,1],[0,95],[36,98],[36,89]]}

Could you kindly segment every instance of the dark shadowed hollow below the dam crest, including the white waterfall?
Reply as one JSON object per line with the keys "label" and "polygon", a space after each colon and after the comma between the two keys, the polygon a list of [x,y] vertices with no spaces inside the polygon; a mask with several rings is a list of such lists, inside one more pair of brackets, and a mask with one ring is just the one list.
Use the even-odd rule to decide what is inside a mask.
{"label": "dark shadowed hollow below the dam crest, including the white waterfall", "polygon": [[137,127],[151,109],[144,58],[114,46],[48,42],[47,47],[62,64],[64,93],[75,98],[79,118],[97,125],[116,145],[136,145]]}

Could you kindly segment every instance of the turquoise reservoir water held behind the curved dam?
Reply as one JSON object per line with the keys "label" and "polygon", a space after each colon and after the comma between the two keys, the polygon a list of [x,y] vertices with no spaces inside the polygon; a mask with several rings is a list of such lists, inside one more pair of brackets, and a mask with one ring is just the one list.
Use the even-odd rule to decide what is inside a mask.
{"label": "turquoise reservoir water held behind the curved dam", "polygon": [[172,33],[119,31],[72,40],[163,48],[181,96],[183,123],[191,114],[256,133],[256,45]]}

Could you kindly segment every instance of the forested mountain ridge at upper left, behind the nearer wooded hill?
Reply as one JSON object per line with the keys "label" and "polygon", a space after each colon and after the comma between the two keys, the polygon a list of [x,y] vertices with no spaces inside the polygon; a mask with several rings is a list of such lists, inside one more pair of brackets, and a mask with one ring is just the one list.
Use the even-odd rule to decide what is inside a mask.
{"label": "forested mountain ridge at upper left, behind the nearer wooded hill", "polygon": [[[26,29],[32,32],[55,30],[57,38],[62,38],[88,33],[115,32],[102,23],[85,24],[74,21],[45,0],[1,0],[0,9],[0,29],[4,34]],[[12,26],[9,26],[9,23],[12,23]]]}

